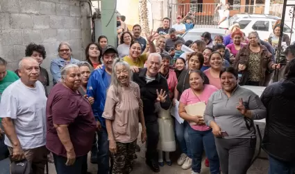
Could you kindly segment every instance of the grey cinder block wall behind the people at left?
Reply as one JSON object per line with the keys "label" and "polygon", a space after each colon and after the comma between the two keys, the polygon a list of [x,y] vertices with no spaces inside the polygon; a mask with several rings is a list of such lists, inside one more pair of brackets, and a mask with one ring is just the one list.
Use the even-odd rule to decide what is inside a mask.
{"label": "grey cinder block wall behind the people at left", "polygon": [[[0,0],[0,56],[16,70],[29,42],[44,45],[49,71],[60,42],[69,42],[73,57],[84,60],[91,41],[90,6],[78,0]],[[50,74],[50,72],[49,72]],[[52,81],[52,78],[50,77]]]}

